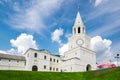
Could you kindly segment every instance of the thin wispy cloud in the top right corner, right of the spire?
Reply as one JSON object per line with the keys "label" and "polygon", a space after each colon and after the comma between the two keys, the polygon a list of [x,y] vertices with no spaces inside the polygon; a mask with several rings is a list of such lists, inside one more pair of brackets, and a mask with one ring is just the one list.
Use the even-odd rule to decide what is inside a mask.
{"label": "thin wispy cloud in the top right corner, right of the spire", "polygon": [[[93,11],[91,11],[91,13],[87,15],[86,21],[91,21],[97,17],[100,17],[100,16],[108,14],[108,13],[110,13],[110,14],[112,13],[112,15],[113,15],[116,13],[116,11],[120,11],[119,0],[114,0],[114,1],[102,0],[101,5],[98,6],[97,8],[94,8]],[[119,15],[119,13],[118,13],[118,15]],[[114,18],[114,17],[112,17],[112,18]],[[112,18],[109,20],[112,20]]]}

